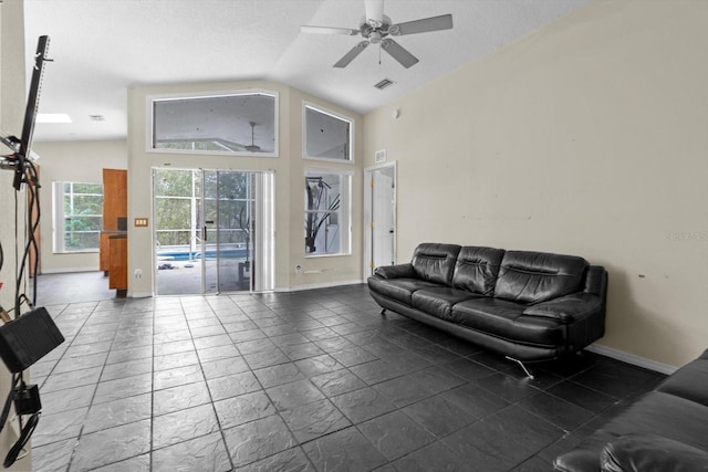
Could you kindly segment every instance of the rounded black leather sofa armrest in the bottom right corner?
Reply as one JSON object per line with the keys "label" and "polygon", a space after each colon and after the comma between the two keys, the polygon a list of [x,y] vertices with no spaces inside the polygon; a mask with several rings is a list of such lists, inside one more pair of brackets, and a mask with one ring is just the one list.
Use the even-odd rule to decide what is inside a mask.
{"label": "rounded black leather sofa armrest in the bottom right corner", "polygon": [[603,449],[603,472],[708,471],[708,451],[654,434],[626,434]]}

